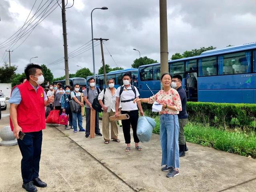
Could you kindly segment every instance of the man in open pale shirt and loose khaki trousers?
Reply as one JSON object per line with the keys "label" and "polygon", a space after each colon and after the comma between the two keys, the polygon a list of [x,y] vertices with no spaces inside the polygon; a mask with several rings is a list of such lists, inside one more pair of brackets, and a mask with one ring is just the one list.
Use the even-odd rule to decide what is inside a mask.
{"label": "man in open pale shirt and loose khaki trousers", "polygon": [[[105,144],[108,144],[109,139],[109,117],[114,116],[116,112],[116,88],[114,88],[115,81],[114,79],[108,80],[108,88],[104,89],[100,92],[98,96],[98,100],[100,105],[102,106],[102,133],[105,140]],[[103,100],[104,99],[104,104]],[[118,109],[119,113],[121,111],[121,103]],[[115,142],[120,142],[118,139],[118,127],[116,122],[111,122],[111,139]]]}

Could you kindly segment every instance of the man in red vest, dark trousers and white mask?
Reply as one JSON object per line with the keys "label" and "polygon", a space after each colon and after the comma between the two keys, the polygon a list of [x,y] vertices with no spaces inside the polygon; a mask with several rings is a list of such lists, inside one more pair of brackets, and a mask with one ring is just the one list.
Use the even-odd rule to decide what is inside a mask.
{"label": "man in red vest, dark trousers and white mask", "polygon": [[[39,86],[44,82],[42,67],[28,64],[25,68],[27,81],[15,86],[10,103],[10,126],[22,154],[22,187],[28,192],[36,192],[38,187],[47,184],[40,180],[39,162],[42,147],[42,129],[45,129],[45,106],[53,102],[54,96],[46,97],[44,89]],[[23,140],[19,133],[25,133]]]}

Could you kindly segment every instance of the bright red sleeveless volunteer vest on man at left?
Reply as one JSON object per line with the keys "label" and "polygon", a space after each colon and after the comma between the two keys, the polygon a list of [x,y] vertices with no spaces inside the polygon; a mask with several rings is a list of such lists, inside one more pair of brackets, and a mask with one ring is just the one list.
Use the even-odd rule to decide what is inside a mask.
{"label": "bright red sleeveless volunteer vest on man at left", "polygon": [[[22,132],[45,129],[44,89],[39,86],[36,92],[28,80],[15,87],[18,87],[21,95],[21,102],[17,107],[17,120]],[[13,131],[11,118],[10,126]]]}

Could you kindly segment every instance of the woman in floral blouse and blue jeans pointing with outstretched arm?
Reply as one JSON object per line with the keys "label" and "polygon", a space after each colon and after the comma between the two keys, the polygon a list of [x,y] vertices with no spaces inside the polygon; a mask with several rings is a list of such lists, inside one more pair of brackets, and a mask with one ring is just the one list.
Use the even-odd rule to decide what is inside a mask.
{"label": "woman in floral blouse and blue jeans pointing with outstretched arm", "polygon": [[171,88],[172,76],[168,73],[161,76],[163,90],[150,98],[136,98],[134,102],[145,102],[162,105],[160,114],[160,142],[162,147],[162,171],[169,171],[168,178],[179,175],[179,111],[182,110],[180,96],[178,92]]}

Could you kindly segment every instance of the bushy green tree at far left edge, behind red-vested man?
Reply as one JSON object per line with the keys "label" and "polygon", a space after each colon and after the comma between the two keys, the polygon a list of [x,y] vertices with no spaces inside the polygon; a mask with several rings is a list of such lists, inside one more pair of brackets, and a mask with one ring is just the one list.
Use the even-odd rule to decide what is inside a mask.
{"label": "bushy green tree at far left edge, behind red-vested man", "polygon": [[11,83],[15,76],[17,66],[10,66],[4,62],[4,66],[0,67],[0,83]]}

